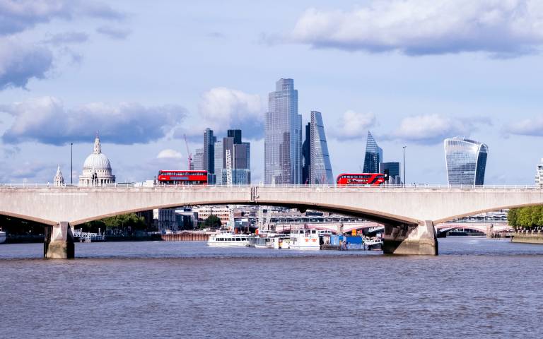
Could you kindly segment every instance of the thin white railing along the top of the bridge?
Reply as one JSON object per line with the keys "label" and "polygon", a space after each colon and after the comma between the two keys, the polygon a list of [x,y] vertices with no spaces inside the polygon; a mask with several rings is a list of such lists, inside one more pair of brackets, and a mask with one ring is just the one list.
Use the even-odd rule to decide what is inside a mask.
{"label": "thin white railing along the top of the bridge", "polygon": [[118,183],[118,184],[94,184],[89,186],[79,186],[78,184],[62,184],[54,185],[50,183],[5,183],[0,184],[0,189],[228,189],[230,191],[245,191],[248,188],[264,188],[267,191],[288,191],[288,189],[300,190],[310,189],[313,191],[347,191],[347,190],[378,190],[378,191],[428,191],[428,190],[440,190],[440,191],[453,191],[453,190],[465,190],[465,191],[486,191],[486,190],[539,190],[543,191],[542,186],[535,185],[441,185],[441,184],[408,184],[408,185],[212,185],[212,184],[141,184],[141,183]]}

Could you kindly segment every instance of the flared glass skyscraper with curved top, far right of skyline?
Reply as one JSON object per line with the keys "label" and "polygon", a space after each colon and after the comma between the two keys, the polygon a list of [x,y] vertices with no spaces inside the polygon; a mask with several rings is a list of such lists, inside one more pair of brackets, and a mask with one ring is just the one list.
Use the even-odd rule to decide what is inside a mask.
{"label": "flared glass skyscraper with curved top, far right of skyline", "polygon": [[445,165],[450,185],[482,185],[489,148],[484,143],[466,138],[448,138],[445,144]]}

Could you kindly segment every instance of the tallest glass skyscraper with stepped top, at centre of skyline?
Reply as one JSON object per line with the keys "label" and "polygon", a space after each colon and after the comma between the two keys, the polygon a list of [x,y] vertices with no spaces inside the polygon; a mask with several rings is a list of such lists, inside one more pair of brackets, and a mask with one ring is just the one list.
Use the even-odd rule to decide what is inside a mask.
{"label": "tallest glass skyscraper with stepped top, at centre of skyline", "polygon": [[302,177],[302,116],[292,79],[279,79],[269,93],[264,141],[264,182],[300,184]]}

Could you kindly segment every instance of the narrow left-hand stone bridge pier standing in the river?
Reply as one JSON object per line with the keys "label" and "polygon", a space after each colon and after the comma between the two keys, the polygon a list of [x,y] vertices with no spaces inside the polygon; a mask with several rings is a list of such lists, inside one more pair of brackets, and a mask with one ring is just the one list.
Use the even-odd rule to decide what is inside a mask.
{"label": "narrow left-hand stone bridge pier standing in the river", "polygon": [[71,232],[69,222],[62,221],[57,225],[45,227],[43,256],[56,259],[74,258],[74,234]]}

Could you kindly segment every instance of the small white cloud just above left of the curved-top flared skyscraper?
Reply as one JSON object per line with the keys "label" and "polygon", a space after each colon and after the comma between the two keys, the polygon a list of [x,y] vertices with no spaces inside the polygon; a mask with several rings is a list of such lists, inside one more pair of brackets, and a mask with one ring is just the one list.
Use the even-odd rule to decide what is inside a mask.
{"label": "small white cloud just above left of the curved-top flared skyscraper", "polygon": [[452,118],[440,114],[416,115],[402,119],[389,138],[414,143],[440,143],[452,136],[469,136],[478,124],[489,124],[484,118]]}

